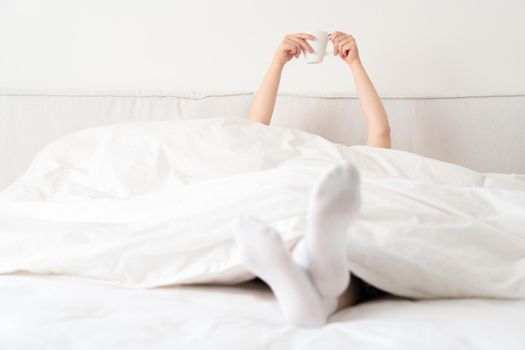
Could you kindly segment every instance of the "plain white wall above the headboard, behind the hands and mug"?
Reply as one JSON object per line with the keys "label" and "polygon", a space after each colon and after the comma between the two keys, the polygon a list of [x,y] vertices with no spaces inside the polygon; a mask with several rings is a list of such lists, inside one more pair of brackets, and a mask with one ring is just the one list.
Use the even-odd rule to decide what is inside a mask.
{"label": "plain white wall above the headboard, behind the hands and mug", "polygon": [[[382,96],[525,94],[520,0],[0,0],[0,88],[253,91],[284,33],[357,38]],[[354,95],[345,64],[284,92]]]}

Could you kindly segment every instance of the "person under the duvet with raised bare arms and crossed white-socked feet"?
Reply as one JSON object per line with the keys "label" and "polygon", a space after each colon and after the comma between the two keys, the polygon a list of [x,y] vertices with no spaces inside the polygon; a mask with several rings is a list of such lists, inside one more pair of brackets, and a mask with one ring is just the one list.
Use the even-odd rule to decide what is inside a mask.
{"label": "person under the duvet with raised bare arms and crossed white-socked feet", "polygon": [[[361,63],[352,35],[329,36],[334,55],[348,64],[368,129],[367,145],[390,148],[388,117],[374,85]],[[313,52],[313,35],[286,35],[252,104],[249,119],[269,125],[282,71],[302,52]],[[359,172],[349,162],[337,165],[314,187],[305,236],[288,252],[281,236],[251,217],[233,222],[236,244],[246,268],[272,289],[286,320],[296,326],[316,327],[334,312],[381,291],[351,276],[346,259],[350,225],[360,209]]]}

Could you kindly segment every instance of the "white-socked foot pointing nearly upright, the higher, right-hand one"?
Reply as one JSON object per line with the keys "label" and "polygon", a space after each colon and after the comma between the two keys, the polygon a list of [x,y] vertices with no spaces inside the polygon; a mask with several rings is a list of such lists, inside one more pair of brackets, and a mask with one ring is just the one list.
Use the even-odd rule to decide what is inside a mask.
{"label": "white-socked foot pointing nearly upright, the higher, right-hand one", "polygon": [[339,296],[350,282],[346,242],[360,205],[359,173],[349,162],[326,173],[312,191],[308,229],[292,258],[325,299]]}

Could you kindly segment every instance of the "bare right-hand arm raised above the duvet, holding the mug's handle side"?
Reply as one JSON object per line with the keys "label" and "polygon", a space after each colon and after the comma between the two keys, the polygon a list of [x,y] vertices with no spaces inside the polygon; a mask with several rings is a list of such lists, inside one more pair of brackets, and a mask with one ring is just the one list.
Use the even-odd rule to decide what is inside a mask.
{"label": "bare right-hand arm raised above the duvet, holding the mug's handle side", "polygon": [[335,32],[331,40],[334,43],[334,54],[339,55],[348,63],[354,75],[357,96],[359,97],[368,129],[367,145],[390,148],[391,139],[388,116],[370,77],[361,63],[354,37]]}

